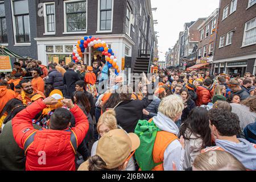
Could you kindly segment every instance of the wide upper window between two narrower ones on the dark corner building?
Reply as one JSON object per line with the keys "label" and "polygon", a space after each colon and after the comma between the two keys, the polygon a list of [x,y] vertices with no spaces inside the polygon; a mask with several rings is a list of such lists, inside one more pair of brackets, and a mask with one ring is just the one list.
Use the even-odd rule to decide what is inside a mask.
{"label": "wide upper window between two narrower ones on the dark corner building", "polygon": [[86,31],[86,1],[64,2],[67,32]]}

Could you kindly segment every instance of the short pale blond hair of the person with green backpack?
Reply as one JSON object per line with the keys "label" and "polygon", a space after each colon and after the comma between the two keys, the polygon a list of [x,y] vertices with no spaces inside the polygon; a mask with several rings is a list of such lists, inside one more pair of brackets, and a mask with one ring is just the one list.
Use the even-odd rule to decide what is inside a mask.
{"label": "short pale blond hair of the person with green backpack", "polygon": [[158,111],[168,118],[174,119],[181,114],[184,109],[183,101],[180,96],[171,95],[163,98],[159,105]]}

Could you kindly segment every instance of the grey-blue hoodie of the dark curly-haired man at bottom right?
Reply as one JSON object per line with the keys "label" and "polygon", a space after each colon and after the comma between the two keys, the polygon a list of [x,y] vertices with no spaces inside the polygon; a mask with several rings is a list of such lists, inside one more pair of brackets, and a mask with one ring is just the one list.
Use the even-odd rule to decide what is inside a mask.
{"label": "grey-blue hoodie of the dark curly-haired man at bottom right", "polygon": [[256,148],[245,139],[238,138],[238,140],[240,140],[240,143],[216,139],[216,144],[226,152],[234,155],[245,168],[256,170]]}

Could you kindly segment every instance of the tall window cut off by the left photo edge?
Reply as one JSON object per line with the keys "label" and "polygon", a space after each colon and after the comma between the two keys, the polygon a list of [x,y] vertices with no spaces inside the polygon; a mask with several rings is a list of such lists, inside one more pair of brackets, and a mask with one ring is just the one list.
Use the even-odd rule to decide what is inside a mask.
{"label": "tall window cut off by the left photo edge", "polygon": [[0,43],[8,43],[4,3],[0,3]]}

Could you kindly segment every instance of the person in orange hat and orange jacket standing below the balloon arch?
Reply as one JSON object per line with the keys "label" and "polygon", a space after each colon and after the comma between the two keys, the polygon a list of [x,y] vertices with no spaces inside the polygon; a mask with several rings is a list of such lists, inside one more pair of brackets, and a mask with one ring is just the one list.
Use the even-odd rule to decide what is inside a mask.
{"label": "person in orange hat and orange jacket standing below the balloon arch", "polygon": [[97,88],[96,88],[96,75],[93,73],[93,67],[87,67],[88,73],[85,74],[85,90],[92,93],[93,97],[97,96]]}

